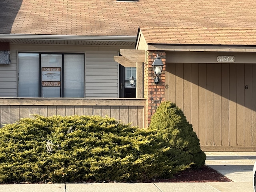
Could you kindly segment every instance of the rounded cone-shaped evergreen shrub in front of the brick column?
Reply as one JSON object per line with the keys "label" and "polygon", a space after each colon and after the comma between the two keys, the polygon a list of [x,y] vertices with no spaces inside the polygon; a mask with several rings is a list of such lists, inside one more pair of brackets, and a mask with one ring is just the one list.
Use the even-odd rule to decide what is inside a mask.
{"label": "rounded cone-shaped evergreen shrub in front of the brick column", "polygon": [[192,125],[174,103],[165,101],[158,106],[152,116],[150,129],[159,130],[158,140],[170,148],[168,154],[177,166],[192,162],[194,168],[200,168],[205,164],[206,155],[200,148]]}

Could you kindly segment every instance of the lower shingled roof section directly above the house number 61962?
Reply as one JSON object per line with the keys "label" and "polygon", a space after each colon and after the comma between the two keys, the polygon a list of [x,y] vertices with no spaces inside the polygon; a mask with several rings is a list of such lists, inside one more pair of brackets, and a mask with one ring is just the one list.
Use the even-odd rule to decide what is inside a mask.
{"label": "lower shingled roof section directly above the house number 61962", "polygon": [[256,45],[256,28],[140,28],[147,44]]}

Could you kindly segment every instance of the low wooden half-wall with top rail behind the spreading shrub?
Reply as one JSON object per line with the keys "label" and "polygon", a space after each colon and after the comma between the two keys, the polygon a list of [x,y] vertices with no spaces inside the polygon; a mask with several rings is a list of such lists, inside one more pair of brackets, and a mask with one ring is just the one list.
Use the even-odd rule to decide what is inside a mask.
{"label": "low wooden half-wall with top rail behind the spreading shrub", "polygon": [[60,115],[109,116],[132,126],[146,127],[146,99],[60,99],[0,98],[0,124],[14,123],[20,118]]}

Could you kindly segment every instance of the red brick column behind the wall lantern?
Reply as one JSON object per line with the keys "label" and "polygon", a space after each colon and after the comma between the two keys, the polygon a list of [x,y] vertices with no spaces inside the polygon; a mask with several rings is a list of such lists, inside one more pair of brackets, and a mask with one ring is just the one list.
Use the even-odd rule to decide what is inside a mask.
{"label": "red brick column behind the wall lantern", "polygon": [[[156,77],[152,68],[152,64],[156,56],[160,56],[164,64],[160,82],[154,83]],[[147,99],[146,106],[146,125],[150,125],[151,117],[156,112],[156,108],[165,100],[165,52],[147,51],[147,62],[144,66],[144,97]]]}

